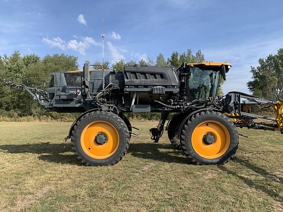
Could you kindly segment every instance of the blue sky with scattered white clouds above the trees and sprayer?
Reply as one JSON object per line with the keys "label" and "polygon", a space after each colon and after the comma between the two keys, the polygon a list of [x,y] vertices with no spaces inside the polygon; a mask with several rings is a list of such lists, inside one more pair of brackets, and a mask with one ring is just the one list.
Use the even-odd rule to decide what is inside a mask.
{"label": "blue sky with scattered white clouds above the trees and sprayer", "polygon": [[282,0],[0,0],[0,55],[66,53],[94,62],[200,49],[232,68],[224,91],[248,92],[250,66],[283,48]]}

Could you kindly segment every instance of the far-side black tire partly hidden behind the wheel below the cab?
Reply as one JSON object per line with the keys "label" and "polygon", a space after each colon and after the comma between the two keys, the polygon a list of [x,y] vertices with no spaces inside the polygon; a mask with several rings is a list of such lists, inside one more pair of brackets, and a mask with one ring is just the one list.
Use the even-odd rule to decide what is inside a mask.
{"label": "far-side black tire partly hidden behind the wheel below the cab", "polygon": [[175,116],[173,116],[168,124],[167,134],[168,138],[171,142],[171,144],[175,147],[177,150],[181,150],[181,143],[180,139],[177,136],[177,132],[179,130],[180,123],[183,121],[183,119],[186,117],[183,113],[178,113]]}

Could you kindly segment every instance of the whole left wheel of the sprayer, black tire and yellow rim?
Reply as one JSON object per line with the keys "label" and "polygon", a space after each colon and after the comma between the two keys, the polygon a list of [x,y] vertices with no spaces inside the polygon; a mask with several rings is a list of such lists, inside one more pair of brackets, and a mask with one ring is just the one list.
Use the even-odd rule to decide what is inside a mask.
{"label": "whole left wheel of the sprayer, black tire and yellow rim", "polygon": [[114,165],[129,148],[130,135],[125,122],[116,114],[95,111],[85,114],[75,124],[72,149],[87,166]]}

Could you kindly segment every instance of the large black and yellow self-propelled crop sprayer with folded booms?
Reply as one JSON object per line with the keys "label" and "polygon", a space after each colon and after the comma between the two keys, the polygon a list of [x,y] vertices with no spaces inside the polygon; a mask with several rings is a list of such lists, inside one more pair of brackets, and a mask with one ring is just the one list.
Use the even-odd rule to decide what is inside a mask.
{"label": "large black and yellow self-propelled crop sprayer with folded booms", "polygon": [[[177,69],[126,65],[123,72],[92,66],[85,61],[83,71],[54,73],[46,91],[7,82],[27,90],[47,111],[81,113],[66,138],[85,165],[113,165],[123,158],[131,136],[138,136],[126,112],[160,112],[151,138],[158,142],[167,130],[173,146],[196,164],[231,159],[238,148],[236,127],[283,133],[282,101],[241,92],[217,96],[230,63],[183,63]],[[251,106],[271,106],[277,115],[252,114]],[[174,115],[165,126],[170,113]],[[257,118],[267,121],[255,122]]]}

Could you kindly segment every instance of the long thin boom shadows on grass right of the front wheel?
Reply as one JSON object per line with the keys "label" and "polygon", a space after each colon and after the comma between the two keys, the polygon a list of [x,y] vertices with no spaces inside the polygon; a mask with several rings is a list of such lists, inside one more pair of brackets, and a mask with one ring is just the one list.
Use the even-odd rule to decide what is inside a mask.
{"label": "long thin boom shadows on grass right of the front wheel", "polygon": [[253,170],[257,174],[261,175],[263,178],[250,179],[249,177],[242,176],[242,175],[226,168],[225,165],[218,165],[218,167],[221,170],[225,171],[226,173],[241,179],[242,181],[245,182],[245,184],[247,184],[251,188],[261,190],[262,192],[266,193],[268,196],[272,197],[276,201],[283,202],[283,196],[281,196],[278,192],[276,192],[272,185],[270,185],[266,182],[266,180],[268,179],[268,180],[272,180],[276,183],[282,183],[282,178],[279,178],[279,177],[275,176],[274,174],[268,173],[265,169],[257,167],[256,165],[254,165],[254,164],[252,164],[252,163],[250,163],[246,160],[243,160],[243,159],[240,159],[240,158],[237,158],[237,157],[235,157],[233,160],[244,165],[244,166],[246,166],[247,168]]}

